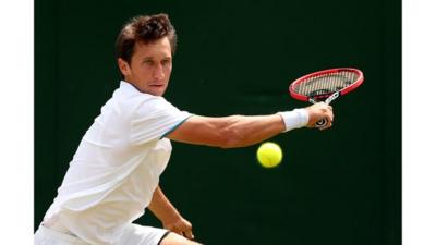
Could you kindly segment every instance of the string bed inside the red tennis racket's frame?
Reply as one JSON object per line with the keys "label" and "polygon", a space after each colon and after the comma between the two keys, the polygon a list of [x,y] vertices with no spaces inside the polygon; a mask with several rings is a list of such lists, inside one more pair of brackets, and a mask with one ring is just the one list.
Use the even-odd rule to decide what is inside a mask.
{"label": "string bed inside the red tennis racket's frame", "polygon": [[358,81],[358,74],[340,71],[308,77],[295,86],[295,91],[304,96],[320,96],[346,88]]}

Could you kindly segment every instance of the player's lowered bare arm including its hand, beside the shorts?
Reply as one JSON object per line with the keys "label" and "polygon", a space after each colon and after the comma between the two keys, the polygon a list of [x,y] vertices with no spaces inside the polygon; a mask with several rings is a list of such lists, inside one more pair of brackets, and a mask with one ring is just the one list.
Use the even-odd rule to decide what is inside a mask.
{"label": "player's lowered bare arm including its hand, beside the shorts", "polygon": [[193,240],[192,224],[185,220],[157,186],[148,209],[162,222],[165,229]]}

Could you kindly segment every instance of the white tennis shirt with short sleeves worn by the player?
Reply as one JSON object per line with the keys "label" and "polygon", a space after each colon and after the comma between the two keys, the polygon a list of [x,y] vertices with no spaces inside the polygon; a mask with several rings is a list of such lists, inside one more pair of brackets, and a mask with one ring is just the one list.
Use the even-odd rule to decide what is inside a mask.
{"label": "white tennis shirt with short sleeves worn by the player", "polygon": [[111,244],[144,213],[171,155],[164,138],[191,114],[126,82],[86,132],[44,222],[60,221],[93,244]]}

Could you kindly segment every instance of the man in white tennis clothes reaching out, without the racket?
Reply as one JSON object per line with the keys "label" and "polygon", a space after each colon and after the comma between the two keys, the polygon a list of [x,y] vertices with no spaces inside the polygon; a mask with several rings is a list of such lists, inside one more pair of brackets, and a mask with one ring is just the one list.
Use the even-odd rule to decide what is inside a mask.
{"label": "man in white tennis clothes reaching out, without the racket", "polygon": [[[160,189],[170,139],[222,148],[244,147],[327,119],[325,103],[270,115],[209,118],[180,111],[164,99],[177,35],[168,16],[138,16],[116,48],[123,75],[84,135],[35,244],[194,245],[191,223]],[[148,208],[164,229],[132,222]]]}

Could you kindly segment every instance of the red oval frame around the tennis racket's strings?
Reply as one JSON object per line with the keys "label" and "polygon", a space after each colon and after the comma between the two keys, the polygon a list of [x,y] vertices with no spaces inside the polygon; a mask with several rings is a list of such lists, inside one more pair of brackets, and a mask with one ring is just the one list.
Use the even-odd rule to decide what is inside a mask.
{"label": "red oval frame around the tennis racket's strings", "polygon": [[[348,87],[344,87],[342,89],[339,90],[340,96],[347,95],[348,93],[354,90],[355,88],[358,88],[362,83],[363,83],[363,73],[362,71],[360,71],[359,69],[353,69],[353,68],[336,68],[336,69],[328,69],[328,70],[323,70],[323,71],[318,71],[318,72],[314,72],[311,74],[307,74],[305,76],[302,76],[298,79],[295,79],[294,82],[292,82],[292,84],[289,86],[289,93],[291,94],[292,98],[298,99],[298,100],[302,100],[302,101],[310,101],[311,97],[308,96],[304,96],[301,94],[295,93],[295,86],[300,83],[303,83],[304,81],[306,81],[307,78],[311,78],[313,76],[318,76],[318,75],[324,75],[327,73],[339,73],[339,72],[353,72],[356,73],[358,76],[358,81],[354,82],[353,84],[351,84]],[[315,100],[319,100],[319,99],[326,99],[328,98],[330,95],[335,94],[336,91],[329,93],[329,94],[325,94],[325,95],[319,95],[319,96],[315,96],[312,99]]]}

